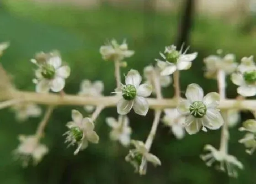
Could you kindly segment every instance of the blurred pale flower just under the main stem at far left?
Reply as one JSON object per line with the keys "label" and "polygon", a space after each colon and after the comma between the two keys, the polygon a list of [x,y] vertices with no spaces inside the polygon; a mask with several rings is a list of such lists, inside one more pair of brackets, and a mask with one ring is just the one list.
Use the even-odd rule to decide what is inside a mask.
{"label": "blurred pale flower just under the main stem at far left", "polygon": [[41,108],[33,103],[18,103],[12,106],[15,111],[17,121],[26,121],[29,117],[38,117],[41,115]]}

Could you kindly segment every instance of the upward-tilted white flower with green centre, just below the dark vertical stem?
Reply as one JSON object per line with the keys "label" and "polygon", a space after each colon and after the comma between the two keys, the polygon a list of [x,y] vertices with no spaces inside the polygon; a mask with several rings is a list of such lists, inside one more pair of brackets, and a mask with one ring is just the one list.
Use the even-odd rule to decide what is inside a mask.
{"label": "upward-tilted white flower with green centre, just below the dark vertical stem", "polygon": [[165,52],[160,53],[163,60],[155,59],[161,70],[161,75],[171,75],[176,70],[187,70],[191,67],[192,61],[197,58],[197,53],[186,54],[189,47],[182,53],[183,47],[184,45],[180,51],[177,51],[174,45],[165,47]]}

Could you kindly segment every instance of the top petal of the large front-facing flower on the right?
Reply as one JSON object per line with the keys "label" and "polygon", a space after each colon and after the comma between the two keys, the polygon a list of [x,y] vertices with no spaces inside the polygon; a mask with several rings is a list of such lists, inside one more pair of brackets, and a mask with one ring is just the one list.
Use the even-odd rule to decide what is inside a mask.
{"label": "top petal of the large front-facing flower on the right", "polygon": [[189,84],[186,90],[186,97],[191,103],[203,100],[203,89],[198,84]]}

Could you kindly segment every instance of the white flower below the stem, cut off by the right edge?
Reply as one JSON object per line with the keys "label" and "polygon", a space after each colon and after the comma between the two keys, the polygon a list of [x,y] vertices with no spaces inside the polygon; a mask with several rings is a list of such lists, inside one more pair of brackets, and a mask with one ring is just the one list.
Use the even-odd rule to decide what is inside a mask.
{"label": "white flower below the stem, cut off by the right edge", "polygon": [[243,127],[240,127],[239,130],[249,131],[239,142],[245,145],[247,148],[245,152],[251,155],[256,150],[256,120],[246,120],[243,122]]}

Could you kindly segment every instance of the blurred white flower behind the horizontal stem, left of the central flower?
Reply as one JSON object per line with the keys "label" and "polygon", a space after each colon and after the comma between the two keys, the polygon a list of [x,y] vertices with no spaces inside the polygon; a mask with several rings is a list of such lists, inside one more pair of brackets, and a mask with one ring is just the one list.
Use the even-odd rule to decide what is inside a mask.
{"label": "blurred white flower behind the horizontal stem, left of the central flower", "polygon": [[[91,83],[90,80],[85,79],[80,84],[80,91],[78,94],[81,96],[96,97],[96,96],[102,96],[103,90],[104,90],[103,82],[97,80],[97,81]],[[84,108],[88,113],[91,113],[95,109],[95,106],[94,105],[85,105]]]}

